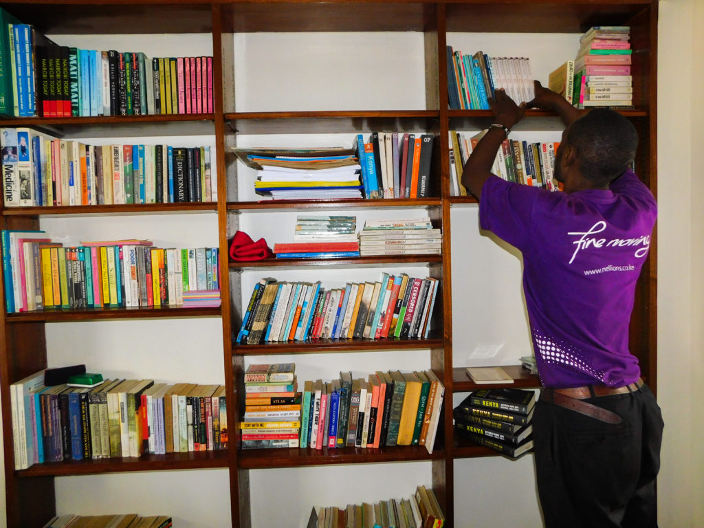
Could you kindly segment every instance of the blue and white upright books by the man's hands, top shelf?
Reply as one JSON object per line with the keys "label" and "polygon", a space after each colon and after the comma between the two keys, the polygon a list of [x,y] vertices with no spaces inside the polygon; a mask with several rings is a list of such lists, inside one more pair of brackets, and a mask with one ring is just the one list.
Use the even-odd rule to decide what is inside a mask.
{"label": "blue and white upright books by the man's hands, top shelf", "polygon": [[516,101],[535,97],[529,58],[463,54],[447,46],[448,102],[452,110],[489,110],[494,91],[503,88]]}

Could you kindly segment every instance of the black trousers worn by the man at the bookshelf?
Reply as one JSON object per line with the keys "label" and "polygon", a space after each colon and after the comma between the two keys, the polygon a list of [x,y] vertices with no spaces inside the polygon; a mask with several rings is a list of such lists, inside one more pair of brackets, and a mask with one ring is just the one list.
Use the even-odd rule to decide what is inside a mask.
{"label": "black trousers worn by the man at the bookshelf", "polygon": [[656,528],[663,423],[653,393],[643,385],[584,401],[622,422],[536,403],[533,439],[546,528]]}

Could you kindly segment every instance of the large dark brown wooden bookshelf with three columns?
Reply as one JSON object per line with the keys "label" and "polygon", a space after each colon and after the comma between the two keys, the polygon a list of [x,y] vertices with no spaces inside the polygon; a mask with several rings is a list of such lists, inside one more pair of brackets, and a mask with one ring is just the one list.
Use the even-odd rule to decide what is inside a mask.
{"label": "large dark brown wooden bookshelf with three columns", "polygon": [[[304,0],[241,1],[93,0],[90,6],[80,0],[3,1],[0,5],[25,23],[50,34],[150,34],[197,33],[212,40],[214,111],[199,115],[106,116],[96,118],[0,118],[0,127],[37,127],[63,137],[168,136],[215,134],[213,165],[218,175],[217,203],[149,204],[135,206],[74,206],[8,209],[0,206],[2,229],[38,229],[43,216],[114,216],[196,214],[216,211],[222,307],[220,308],[103,308],[102,310],[46,310],[37,313],[7,314],[0,310],[0,391],[6,488],[6,519],[9,528],[40,528],[56,513],[54,477],[111,472],[151,472],[227,468],[230,474],[230,508],[233,527],[250,527],[251,490],[249,471],[273,467],[307,467],[346,464],[404,463],[428,461],[432,470],[427,482],[432,486],[446,514],[446,526],[455,525],[455,460],[496,455],[453,434],[451,396],[471,391],[473,384],[453,360],[453,287],[451,270],[452,206],[476,204],[470,196],[450,196],[448,131],[476,129],[491,120],[488,111],[448,110],[445,46],[455,32],[581,33],[591,25],[630,25],[634,48],[634,110],[622,114],[639,131],[641,146],[636,168],[655,194],[657,189],[657,43],[658,2],[656,0],[418,0],[355,2],[341,0],[313,3]],[[234,43],[237,33],[251,32],[421,32],[425,61],[425,106],[406,110],[370,111],[254,111],[241,112],[235,105]],[[360,77],[360,89],[366,82]],[[544,84],[544,83],[543,83]],[[527,111],[520,130],[558,130],[558,118],[546,111]],[[432,186],[430,198],[398,200],[315,200],[239,201],[237,162],[232,146],[243,134],[325,134],[344,132],[369,134],[372,130],[427,130],[434,134]],[[416,208],[429,210],[437,227],[442,227],[441,256],[360,257],[329,260],[263,260],[254,263],[228,263],[228,239],[239,226],[241,215],[268,215],[296,210],[388,210],[408,213]],[[454,226],[461,231],[466,226]],[[474,229],[474,227],[472,227]],[[636,306],[631,318],[631,350],[639,358],[643,377],[655,390],[657,370],[657,269],[655,239],[650,257],[639,279]],[[436,328],[427,340],[315,340],[303,344],[279,343],[238,346],[232,341],[243,304],[239,271],[261,271],[269,275],[281,269],[316,270],[325,268],[397,268],[427,265],[441,279],[441,295],[436,301]],[[455,263],[458,265],[458,263]],[[0,295],[4,294],[0,281]],[[481,299],[477,299],[481,302]],[[83,320],[124,320],[152,318],[218,317],[222,321],[222,365],[228,395],[227,420],[230,450],[203,453],[144,455],[135,459],[86,460],[14,468],[13,430],[9,386],[18,379],[47,366],[47,322]],[[184,327],[189,323],[183,321]],[[443,422],[436,449],[396,447],[362,449],[282,449],[241,450],[237,429],[241,392],[241,372],[247,356],[270,356],[272,362],[284,354],[384,353],[390,350],[427,349],[432,370],[446,386]],[[97,351],[99,353],[99,351]],[[459,357],[459,356],[458,356]],[[52,366],[52,365],[49,365]],[[215,365],[213,365],[215,366]],[[343,365],[341,365],[343,367]],[[219,366],[218,366],[219,368]],[[520,367],[504,367],[516,379],[513,386],[536,388],[539,380]],[[483,386],[486,387],[486,386]],[[240,389],[237,390],[236,389]],[[354,484],[351,484],[354,485]],[[200,490],[196,490],[200,493]],[[284,491],[285,493],[285,491]],[[41,501],[37,501],[41,497]],[[128,509],[125,504],[125,509]]]}

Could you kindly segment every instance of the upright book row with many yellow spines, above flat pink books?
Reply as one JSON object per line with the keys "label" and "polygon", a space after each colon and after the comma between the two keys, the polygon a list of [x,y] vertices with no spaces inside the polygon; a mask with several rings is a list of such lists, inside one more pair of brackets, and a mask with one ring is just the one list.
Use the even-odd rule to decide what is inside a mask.
{"label": "upright book row with many yellow spines, above flat pink books", "polygon": [[1,240],[7,313],[180,306],[184,291],[220,289],[218,248],[162,249],[146,240],[64,247],[44,231],[2,230]]}

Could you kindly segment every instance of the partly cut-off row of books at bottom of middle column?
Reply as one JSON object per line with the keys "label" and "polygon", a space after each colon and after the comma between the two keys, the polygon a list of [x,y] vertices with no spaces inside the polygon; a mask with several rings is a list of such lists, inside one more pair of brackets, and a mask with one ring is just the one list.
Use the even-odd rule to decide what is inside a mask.
{"label": "partly cut-off row of books at bottom of middle column", "polygon": [[418,486],[410,498],[348,504],[346,508],[314,507],[306,528],[440,528],[444,522],[433,489]]}

